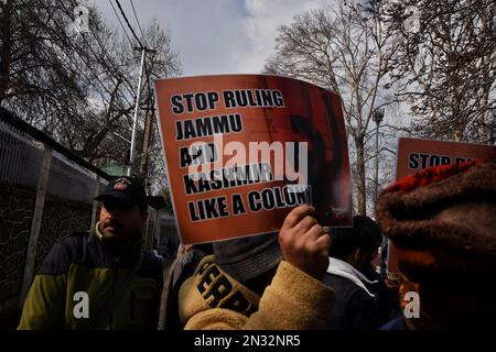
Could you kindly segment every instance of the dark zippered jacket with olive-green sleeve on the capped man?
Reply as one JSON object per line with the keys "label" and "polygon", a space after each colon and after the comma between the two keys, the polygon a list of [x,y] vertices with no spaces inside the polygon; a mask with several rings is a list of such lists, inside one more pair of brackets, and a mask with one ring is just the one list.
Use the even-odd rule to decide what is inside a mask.
{"label": "dark zippered jacket with olive-green sleeve on the capped man", "polygon": [[95,231],[60,240],[34,278],[22,311],[25,329],[157,329],[163,265],[141,237],[112,251]]}

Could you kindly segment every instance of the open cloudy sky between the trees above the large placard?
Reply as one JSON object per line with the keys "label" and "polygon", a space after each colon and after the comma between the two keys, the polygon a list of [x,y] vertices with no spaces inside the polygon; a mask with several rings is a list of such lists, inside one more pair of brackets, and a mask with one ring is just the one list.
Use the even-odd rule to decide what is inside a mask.
{"label": "open cloudy sky between the trees above the large placard", "polygon": [[[120,3],[139,33],[130,0]],[[298,13],[331,4],[333,0],[133,0],[133,3],[142,28],[157,18],[162,28],[170,29],[183,75],[196,76],[260,73],[273,53],[278,26],[290,24]],[[95,0],[95,4],[120,29],[108,0]]]}

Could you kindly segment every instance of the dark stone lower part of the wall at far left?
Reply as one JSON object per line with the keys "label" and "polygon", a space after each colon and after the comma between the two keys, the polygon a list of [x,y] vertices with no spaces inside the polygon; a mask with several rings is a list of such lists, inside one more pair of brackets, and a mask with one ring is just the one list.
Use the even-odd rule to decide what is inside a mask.
{"label": "dark stone lower part of the wall at far left", "polygon": [[[0,185],[0,329],[12,329],[21,314],[19,295],[36,196],[32,190],[4,185]],[[47,197],[35,272],[57,239],[88,230],[90,221],[90,205]]]}

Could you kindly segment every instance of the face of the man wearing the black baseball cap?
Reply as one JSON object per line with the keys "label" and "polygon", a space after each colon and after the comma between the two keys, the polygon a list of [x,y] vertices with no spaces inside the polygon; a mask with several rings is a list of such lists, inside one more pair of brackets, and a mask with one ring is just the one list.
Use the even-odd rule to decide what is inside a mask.
{"label": "face of the man wearing the black baseball cap", "polygon": [[148,212],[141,211],[138,206],[128,207],[108,198],[101,206],[99,230],[106,240],[128,244],[136,239],[147,217]]}

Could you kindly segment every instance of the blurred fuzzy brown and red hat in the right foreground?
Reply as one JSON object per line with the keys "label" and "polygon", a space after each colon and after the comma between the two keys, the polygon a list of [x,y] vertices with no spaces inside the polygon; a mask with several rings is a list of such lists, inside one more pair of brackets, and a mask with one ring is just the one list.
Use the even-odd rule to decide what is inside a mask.
{"label": "blurred fuzzy brown and red hat in the right foreground", "polygon": [[376,204],[401,272],[438,283],[496,273],[496,164],[472,161],[421,170],[391,185]]}

